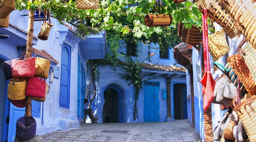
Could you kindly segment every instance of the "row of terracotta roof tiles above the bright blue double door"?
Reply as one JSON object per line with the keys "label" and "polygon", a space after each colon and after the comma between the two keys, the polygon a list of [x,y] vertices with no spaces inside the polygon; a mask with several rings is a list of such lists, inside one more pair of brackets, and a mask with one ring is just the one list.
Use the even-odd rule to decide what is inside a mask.
{"label": "row of terracotta roof tiles above the bright blue double door", "polygon": [[186,72],[186,68],[184,67],[155,65],[148,63],[141,63],[140,65],[142,65],[145,69],[148,70]]}

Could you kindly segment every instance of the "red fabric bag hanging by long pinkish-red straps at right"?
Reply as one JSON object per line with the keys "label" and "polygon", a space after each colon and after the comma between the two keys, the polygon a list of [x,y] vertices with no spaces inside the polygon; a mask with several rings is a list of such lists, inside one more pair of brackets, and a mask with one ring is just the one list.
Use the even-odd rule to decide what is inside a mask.
{"label": "red fabric bag hanging by long pinkish-red straps at right", "polygon": [[210,60],[209,60],[209,45],[208,45],[208,27],[207,27],[207,9],[204,8],[202,11],[202,23],[203,23],[203,43],[204,43],[204,76],[201,79],[203,84],[203,108],[204,111],[208,109],[213,100],[213,91],[215,88],[216,81],[213,79],[210,71]]}

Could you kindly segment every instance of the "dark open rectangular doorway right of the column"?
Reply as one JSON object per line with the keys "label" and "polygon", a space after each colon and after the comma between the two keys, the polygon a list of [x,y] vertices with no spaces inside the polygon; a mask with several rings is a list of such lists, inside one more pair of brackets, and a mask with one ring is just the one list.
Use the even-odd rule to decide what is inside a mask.
{"label": "dark open rectangular doorway right of the column", "polygon": [[173,84],[174,119],[187,119],[187,85]]}

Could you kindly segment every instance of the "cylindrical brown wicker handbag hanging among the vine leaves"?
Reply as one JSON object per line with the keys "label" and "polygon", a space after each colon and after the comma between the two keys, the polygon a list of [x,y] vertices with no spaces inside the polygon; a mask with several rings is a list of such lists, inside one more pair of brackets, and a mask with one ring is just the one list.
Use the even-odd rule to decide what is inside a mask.
{"label": "cylindrical brown wicker handbag hanging among the vine leaves", "polygon": [[[148,27],[166,27],[170,26],[172,24],[172,16],[170,14],[164,14],[164,9],[161,3],[161,0],[158,0],[159,4],[157,4],[157,0],[155,1],[155,6],[156,7],[156,14],[147,14],[144,18],[145,20],[145,25]],[[160,14],[160,9],[159,9],[159,14],[157,14],[157,5],[161,5],[162,12],[163,14]]]}

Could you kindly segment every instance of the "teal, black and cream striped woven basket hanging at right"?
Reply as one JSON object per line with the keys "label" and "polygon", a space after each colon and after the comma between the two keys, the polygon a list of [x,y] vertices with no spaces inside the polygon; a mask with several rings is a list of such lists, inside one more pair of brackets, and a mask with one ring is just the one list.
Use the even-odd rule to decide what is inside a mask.
{"label": "teal, black and cream striped woven basket hanging at right", "polygon": [[[236,86],[236,88],[237,88],[237,85],[238,85],[238,82],[237,82],[237,75],[236,75],[236,73],[231,69],[231,67],[230,67],[228,64],[226,64],[226,66],[223,67],[221,64],[219,64],[219,63],[217,63],[217,62],[214,62],[213,64],[214,64],[214,66],[216,66],[217,68],[219,68],[220,71],[222,71],[225,75],[227,75],[228,78],[232,81],[232,83],[233,83],[233,84]],[[222,70],[221,68],[223,68],[224,70]],[[243,83],[241,83],[240,86],[241,86],[241,87],[240,87],[241,93],[245,92],[246,89],[245,89]]]}

